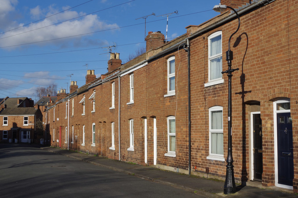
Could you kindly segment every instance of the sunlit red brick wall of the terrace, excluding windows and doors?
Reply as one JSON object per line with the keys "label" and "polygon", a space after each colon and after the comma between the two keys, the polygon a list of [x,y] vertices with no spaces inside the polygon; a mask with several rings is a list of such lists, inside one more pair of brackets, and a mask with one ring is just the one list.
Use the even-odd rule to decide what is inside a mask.
{"label": "sunlit red brick wall of the terrace, excluding windows and doors", "polygon": [[[249,116],[252,101],[261,112],[263,125],[263,180],[265,186],[274,185],[274,118],[273,101],[281,97],[291,100],[291,116],[293,131],[297,131],[297,1],[274,1],[264,7],[241,16],[241,26],[232,37],[231,49],[234,52],[232,68],[239,67],[232,76],[232,145],[235,180],[246,182],[250,178],[250,127]],[[216,31],[222,31],[223,70],[227,69],[225,51],[231,32],[236,30],[237,20],[221,25],[207,33],[190,40],[191,66],[191,137],[192,154],[191,168],[224,178],[226,162],[207,159],[209,155],[209,108],[222,106],[224,116],[224,158],[227,156],[227,104],[228,78],[223,75],[224,83],[204,87],[208,82],[208,36]],[[240,43],[233,47],[236,38]],[[167,94],[167,59],[175,56],[176,95],[164,97]],[[179,71],[178,71],[179,69]],[[120,124],[120,159],[123,161],[144,163],[144,117],[147,118],[148,133],[148,164],[153,164],[153,117],[157,124],[157,163],[175,168],[188,169],[188,117],[187,117],[187,53],[179,50],[134,72],[134,103],[129,102],[129,75],[120,77],[120,123],[118,123],[119,79],[111,79],[101,85],[91,88],[79,96],[75,96],[75,113],[69,118],[69,126],[74,125],[77,136],[72,148],[92,154],[101,154],[111,159],[119,159]],[[111,83],[115,82],[115,109],[111,107]],[[96,90],[96,109],[91,113],[92,103],[88,99]],[[85,116],[82,116],[82,105],[79,104],[86,94]],[[62,127],[63,148],[65,126],[65,104],[59,107],[59,122],[52,121],[50,109],[51,132],[55,128],[58,137],[59,127]],[[255,108],[257,108],[255,107]],[[70,104],[71,108],[71,104]],[[70,110],[71,112],[71,110]],[[61,114],[61,115],[60,115]],[[167,116],[176,116],[176,157],[168,157],[167,152]],[[129,148],[129,119],[134,119],[134,151]],[[95,147],[91,147],[92,123],[96,127]],[[115,123],[115,150],[111,147],[111,122]],[[82,128],[85,125],[85,146],[82,146]],[[71,127],[70,127],[71,128]],[[70,133],[71,134],[71,133]],[[52,134],[51,134],[52,135]],[[59,137],[58,137],[59,138]],[[53,145],[58,145],[55,141]],[[293,133],[294,147],[294,191],[298,185],[298,135]]]}

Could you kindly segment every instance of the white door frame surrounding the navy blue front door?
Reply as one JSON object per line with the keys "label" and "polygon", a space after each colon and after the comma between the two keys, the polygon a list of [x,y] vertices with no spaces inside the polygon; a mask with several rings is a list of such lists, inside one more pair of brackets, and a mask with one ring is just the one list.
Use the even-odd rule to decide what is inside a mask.
{"label": "white door frame surrounding the navy blue front door", "polygon": [[293,190],[293,186],[288,186],[288,185],[283,185],[283,184],[279,184],[278,182],[278,163],[277,163],[277,123],[276,123],[276,119],[277,113],[290,113],[290,110],[277,110],[276,105],[278,103],[284,103],[284,102],[290,102],[290,99],[280,99],[277,101],[273,102],[273,119],[274,119],[274,172],[275,172],[275,186],[277,187],[281,187],[281,188],[287,188],[287,189],[291,189]]}

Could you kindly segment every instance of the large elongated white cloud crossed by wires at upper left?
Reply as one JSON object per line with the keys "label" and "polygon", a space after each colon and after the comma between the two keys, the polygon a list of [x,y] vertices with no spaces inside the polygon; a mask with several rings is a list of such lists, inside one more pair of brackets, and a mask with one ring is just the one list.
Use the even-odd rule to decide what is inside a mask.
{"label": "large elongated white cloud crossed by wires at upper left", "polygon": [[[50,16],[58,12],[58,10],[55,10],[53,6],[48,7],[48,10],[49,11],[48,13],[46,13],[45,16]],[[33,13],[38,14],[40,12],[40,8],[35,7],[34,10],[31,9],[31,11],[32,11],[32,14]],[[67,46],[67,45],[72,45],[72,43],[69,44],[70,41],[74,39],[80,40],[84,38],[84,35],[70,37],[67,39],[58,39],[58,38],[63,38],[63,37],[68,37],[73,35],[81,35],[81,34],[86,34],[86,33],[95,32],[99,30],[106,30],[106,29],[119,27],[116,23],[107,24],[101,21],[99,17],[95,14],[62,22],[68,19],[81,16],[83,14],[85,13],[78,13],[76,11],[68,10],[63,13],[46,18],[40,22],[36,22],[28,26],[21,27],[16,30],[7,32],[5,34],[2,34],[1,37],[2,38],[7,36],[11,36],[11,37],[1,39],[0,46],[5,47],[5,46],[19,45],[24,43],[33,43],[33,42],[39,42],[39,43],[36,43],[37,45],[46,45],[50,43],[50,44],[55,44],[57,46],[61,46],[62,44]],[[62,22],[62,23],[59,23],[59,22]],[[59,24],[55,24],[55,23],[59,23]],[[55,24],[55,25],[52,25],[52,24]],[[45,27],[45,26],[49,26],[49,27]],[[41,29],[38,29],[38,28],[41,28]],[[38,30],[35,30],[35,29],[38,29]],[[34,30],[34,31],[30,31],[30,30]],[[30,31],[30,32],[27,32],[27,31]],[[27,33],[23,33],[23,32],[27,32]],[[19,34],[19,35],[16,35],[16,34]],[[16,36],[13,36],[13,35],[16,35]],[[90,37],[90,35],[91,34],[87,34],[86,36]],[[53,39],[58,39],[58,40],[53,40]],[[44,40],[51,40],[51,41],[40,42]]]}

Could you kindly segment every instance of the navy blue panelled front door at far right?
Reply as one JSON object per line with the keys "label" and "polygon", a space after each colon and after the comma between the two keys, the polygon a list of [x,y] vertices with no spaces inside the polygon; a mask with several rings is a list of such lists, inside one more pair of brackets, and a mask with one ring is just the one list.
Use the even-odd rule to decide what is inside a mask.
{"label": "navy blue panelled front door at far right", "polygon": [[277,113],[278,183],[293,186],[293,132],[291,113]]}

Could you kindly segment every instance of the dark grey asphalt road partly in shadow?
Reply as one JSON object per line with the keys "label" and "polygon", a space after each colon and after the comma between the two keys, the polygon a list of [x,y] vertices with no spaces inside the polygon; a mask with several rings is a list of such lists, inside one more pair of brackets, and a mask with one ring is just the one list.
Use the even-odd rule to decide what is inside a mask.
{"label": "dark grey asphalt road partly in shadow", "polygon": [[0,144],[0,197],[203,197],[34,148]]}

